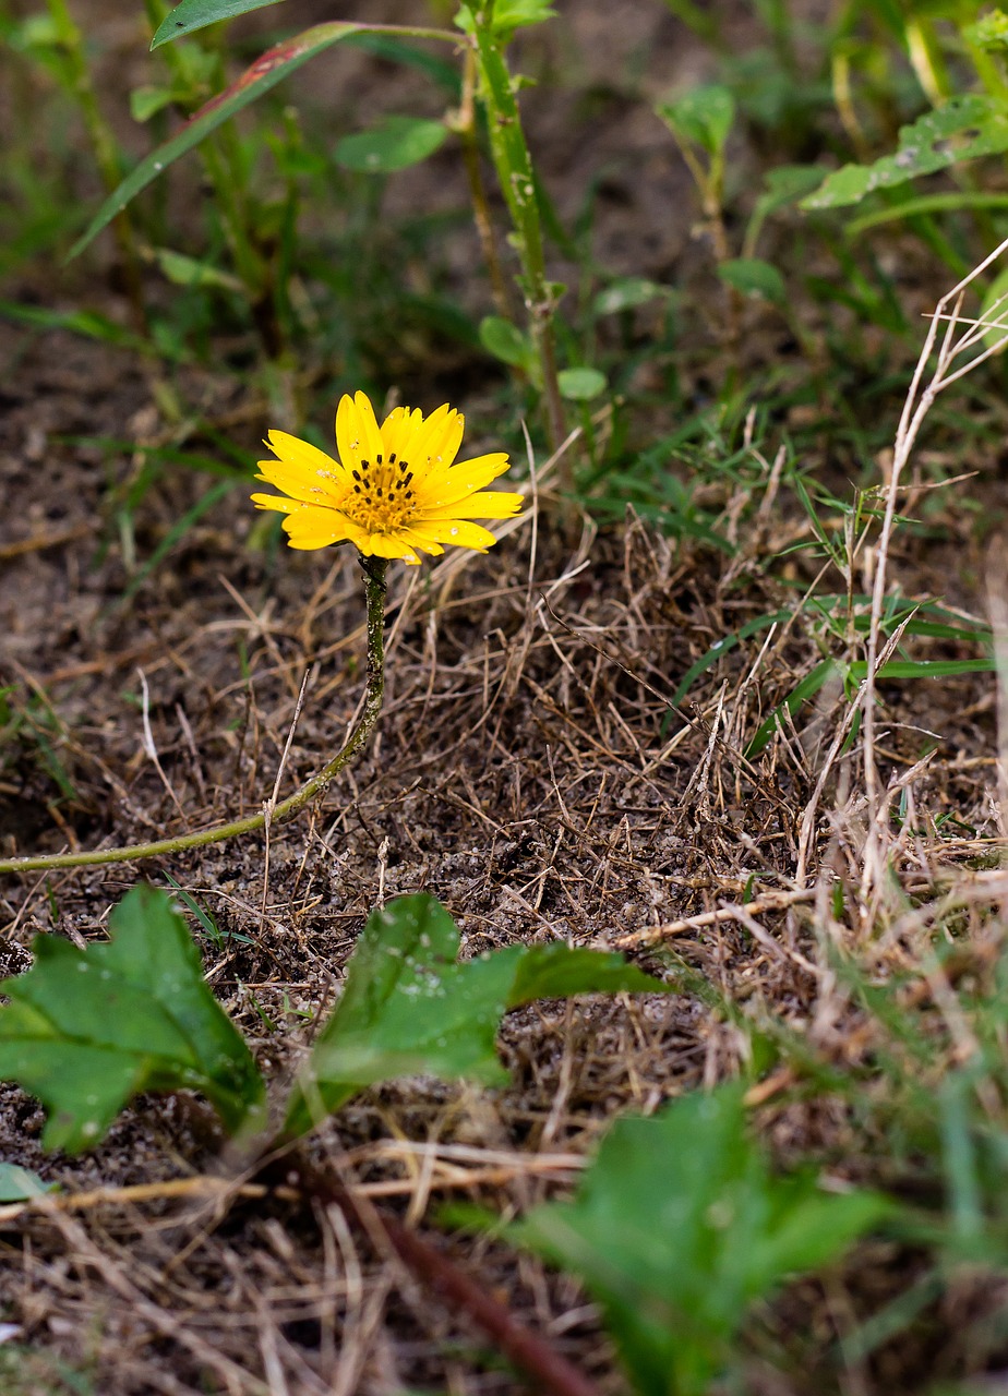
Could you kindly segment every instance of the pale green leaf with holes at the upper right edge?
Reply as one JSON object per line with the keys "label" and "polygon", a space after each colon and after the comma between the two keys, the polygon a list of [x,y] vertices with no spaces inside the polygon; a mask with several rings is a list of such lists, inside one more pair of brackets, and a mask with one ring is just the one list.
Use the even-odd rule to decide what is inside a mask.
{"label": "pale green leaf with holes at the upper right edge", "polygon": [[919,174],[1004,151],[1008,151],[1008,109],[990,96],[955,96],[905,126],[895,155],[885,155],[874,165],[845,165],[815,194],[804,198],[801,208],[859,204],[878,188],[892,188]]}

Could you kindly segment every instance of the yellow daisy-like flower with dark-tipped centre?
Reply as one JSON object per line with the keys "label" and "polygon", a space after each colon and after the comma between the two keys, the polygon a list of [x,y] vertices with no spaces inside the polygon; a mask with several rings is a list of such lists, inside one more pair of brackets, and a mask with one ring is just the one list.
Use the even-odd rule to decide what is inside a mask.
{"label": "yellow daisy-like flower with dark-tipped centre", "polygon": [[464,426],[447,403],[429,417],[417,408],[395,408],[378,426],[363,392],[343,395],[336,409],[339,459],[286,431],[269,431],[276,459],[260,461],[257,479],[289,498],[253,494],[253,504],[286,514],[290,547],[353,543],[364,557],[410,564],[420,561],[419,553],[444,553],[443,543],[484,553],[497,539],[470,515],[511,518],[522,497],[483,489],[507,470],[503,452],[455,462]]}

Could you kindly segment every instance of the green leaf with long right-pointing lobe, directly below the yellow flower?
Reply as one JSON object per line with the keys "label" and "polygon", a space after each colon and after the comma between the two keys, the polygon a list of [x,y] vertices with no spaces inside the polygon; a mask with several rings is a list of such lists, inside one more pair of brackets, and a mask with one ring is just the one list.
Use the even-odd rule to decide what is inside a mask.
{"label": "green leaf with long right-pointing lobe, directly below the yellow flower", "polygon": [[669,993],[618,955],[508,945],[458,963],[458,945],[454,920],[427,893],[371,913],[343,995],[292,1094],[285,1135],[304,1134],[363,1086],[396,1076],[504,1083],[497,1030],[508,1008],[532,997]]}

